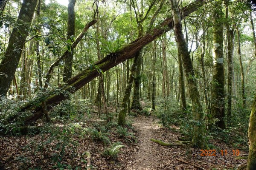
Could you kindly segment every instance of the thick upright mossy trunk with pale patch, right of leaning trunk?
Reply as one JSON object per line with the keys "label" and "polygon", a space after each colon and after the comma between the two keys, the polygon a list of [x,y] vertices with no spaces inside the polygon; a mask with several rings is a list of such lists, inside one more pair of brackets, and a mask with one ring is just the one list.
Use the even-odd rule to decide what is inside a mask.
{"label": "thick upright mossy trunk with pale patch, right of leaning trunk", "polygon": [[225,94],[224,94],[224,65],[223,65],[223,13],[220,3],[215,4],[213,12],[213,73],[212,73],[212,115],[218,119],[216,125],[225,128]]}

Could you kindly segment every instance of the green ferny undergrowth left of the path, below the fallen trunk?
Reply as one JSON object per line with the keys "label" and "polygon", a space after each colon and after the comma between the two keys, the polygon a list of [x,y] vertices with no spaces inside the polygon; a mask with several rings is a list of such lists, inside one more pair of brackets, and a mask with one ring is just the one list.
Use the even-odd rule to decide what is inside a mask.
{"label": "green ferny undergrowth left of the path, below the fallen trunk", "polygon": [[[8,102],[8,105],[5,108],[2,107],[1,111],[9,110],[10,113],[1,114],[1,120],[5,119],[6,115],[10,116],[11,112],[16,114],[19,111],[19,105],[15,105],[15,102]],[[116,113],[108,113],[107,116],[102,114],[99,117],[93,113],[88,100],[63,101],[50,111],[50,116],[51,123],[45,123],[43,117],[35,126],[40,127],[40,130],[36,133],[35,130],[28,130],[26,133],[25,137],[31,139],[22,148],[22,153],[15,158],[20,169],[39,170],[52,167],[52,169],[80,170],[83,169],[81,164],[86,164],[87,157],[86,150],[84,153],[78,152],[81,141],[86,140],[92,145],[103,146],[100,148],[105,148],[105,150],[98,150],[98,153],[106,160],[112,161],[118,159],[125,144],[137,141],[133,133],[132,116],[127,116],[124,128],[120,127],[117,124]],[[111,121],[107,122],[109,119]],[[0,127],[3,128],[5,123],[0,122]],[[5,127],[6,131],[2,133],[20,136],[22,135],[18,130],[20,125],[22,124],[8,125]],[[33,158],[42,163],[32,164]]]}

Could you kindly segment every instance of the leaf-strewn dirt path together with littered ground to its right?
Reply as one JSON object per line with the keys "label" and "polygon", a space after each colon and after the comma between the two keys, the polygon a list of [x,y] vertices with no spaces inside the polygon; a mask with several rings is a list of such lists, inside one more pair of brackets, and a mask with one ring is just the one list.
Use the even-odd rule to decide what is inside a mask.
{"label": "leaf-strewn dirt path together with littered ground to its right", "polygon": [[[227,156],[221,156],[216,150],[216,156],[200,156],[200,149],[186,147],[163,147],[150,141],[151,138],[170,142],[177,140],[179,133],[167,128],[159,127],[159,120],[155,117],[137,116],[134,118],[134,127],[138,136],[138,151],[132,157],[134,161],[128,162],[127,170],[235,170],[243,164],[246,155],[240,150],[240,157],[233,156],[233,149],[224,143],[215,142],[215,146],[227,150]],[[178,127],[173,127],[178,128]],[[188,153],[191,154],[188,154]],[[190,158],[189,158],[190,157]],[[183,163],[177,159],[188,162]],[[201,168],[193,166],[197,165]]]}

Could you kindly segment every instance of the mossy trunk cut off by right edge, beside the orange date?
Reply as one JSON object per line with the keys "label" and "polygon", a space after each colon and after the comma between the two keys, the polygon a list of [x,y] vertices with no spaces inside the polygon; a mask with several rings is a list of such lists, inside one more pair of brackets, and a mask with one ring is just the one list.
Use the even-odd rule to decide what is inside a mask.
{"label": "mossy trunk cut off by right edge, beside the orange date", "polygon": [[250,123],[248,130],[249,156],[247,159],[246,170],[256,170],[256,95],[250,114]]}

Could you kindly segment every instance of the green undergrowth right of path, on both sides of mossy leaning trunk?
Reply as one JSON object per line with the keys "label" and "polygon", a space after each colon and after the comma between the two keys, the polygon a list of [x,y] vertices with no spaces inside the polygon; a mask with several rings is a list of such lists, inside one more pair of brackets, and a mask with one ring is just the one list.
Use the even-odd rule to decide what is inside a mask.
{"label": "green undergrowth right of path, on both sides of mossy leaning trunk", "polygon": [[[187,103],[187,110],[183,112],[180,111],[180,103],[175,99],[157,99],[156,106],[152,114],[159,118],[160,125],[180,133],[183,140],[192,140],[194,127],[199,122],[194,121],[191,103]],[[238,102],[233,107],[231,118],[226,118],[226,129],[220,129],[215,126],[216,120],[208,116],[205,111],[208,146],[214,148],[215,142],[224,142],[230,147],[246,150],[249,115],[250,110],[244,110]]]}

